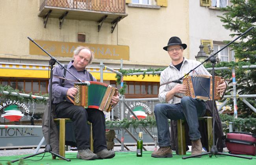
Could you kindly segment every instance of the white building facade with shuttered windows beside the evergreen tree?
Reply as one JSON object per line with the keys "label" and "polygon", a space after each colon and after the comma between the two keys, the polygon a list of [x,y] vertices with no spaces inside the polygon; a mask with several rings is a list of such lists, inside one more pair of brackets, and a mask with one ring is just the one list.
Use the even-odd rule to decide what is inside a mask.
{"label": "white building facade with shuttered windows beside the evergreen tree", "polygon": [[[200,50],[198,48],[200,44],[204,45],[204,51],[207,54],[211,54],[226,45],[223,41],[232,41],[232,37],[229,36],[230,31],[223,27],[223,22],[218,17],[223,16],[224,13],[219,7],[230,5],[230,0],[189,1],[189,57],[191,59]],[[232,61],[232,54],[234,55],[232,48],[227,47],[215,57],[219,61]]]}

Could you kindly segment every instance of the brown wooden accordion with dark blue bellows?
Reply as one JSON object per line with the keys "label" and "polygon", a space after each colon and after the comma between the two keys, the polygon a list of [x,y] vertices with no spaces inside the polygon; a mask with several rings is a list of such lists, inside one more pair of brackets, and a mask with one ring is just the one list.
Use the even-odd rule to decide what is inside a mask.
{"label": "brown wooden accordion with dark blue bellows", "polygon": [[221,100],[221,93],[216,90],[216,87],[221,84],[221,79],[222,77],[215,76],[214,85],[212,85],[212,76],[187,76],[183,80],[183,85],[187,87],[186,96],[205,101],[212,100],[212,87],[214,87],[214,99]]}

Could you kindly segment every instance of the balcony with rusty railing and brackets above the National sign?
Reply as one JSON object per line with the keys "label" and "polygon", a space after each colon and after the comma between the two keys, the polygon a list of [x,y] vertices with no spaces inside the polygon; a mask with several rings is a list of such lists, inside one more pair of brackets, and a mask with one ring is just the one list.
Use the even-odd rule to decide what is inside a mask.
{"label": "balcony with rusty railing and brackets above the National sign", "polygon": [[45,26],[48,18],[53,17],[59,18],[60,28],[64,19],[115,24],[128,15],[125,0],[40,0],[39,11]]}

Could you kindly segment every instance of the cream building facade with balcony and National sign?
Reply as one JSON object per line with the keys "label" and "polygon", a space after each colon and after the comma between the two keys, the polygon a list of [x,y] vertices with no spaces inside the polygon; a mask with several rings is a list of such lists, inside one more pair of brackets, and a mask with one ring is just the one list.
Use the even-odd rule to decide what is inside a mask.
{"label": "cream building facade with balcony and National sign", "polygon": [[[184,43],[189,43],[189,16],[182,12],[188,11],[186,0],[1,0],[0,3],[1,83],[23,88],[25,92],[46,92],[50,59],[28,37],[61,63],[72,59],[76,46],[89,46],[95,59],[88,69],[98,80],[100,62],[113,69],[120,69],[121,59],[124,69],[164,68],[170,63],[162,49],[168,39],[178,35]],[[189,57],[187,52],[185,56]],[[108,73],[104,74],[104,80],[115,81],[115,74]],[[159,77],[128,76],[124,80],[130,84],[159,82]]]}

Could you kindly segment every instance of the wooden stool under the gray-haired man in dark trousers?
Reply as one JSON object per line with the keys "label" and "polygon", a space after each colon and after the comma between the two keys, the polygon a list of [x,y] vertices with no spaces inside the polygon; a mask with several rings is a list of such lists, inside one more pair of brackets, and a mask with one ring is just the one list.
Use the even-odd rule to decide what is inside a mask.
{"label": "wooden stool under the gray-haired man in dark trousers", "polygon": [[[68,118],[56,118],[55,122],[59,124],[59,155],[65,157],[65,131],[66,131],[66,122],[71,121]],[[93,124],[87,122],[91,126],[90,131],[90,149],[93,152]]]}

